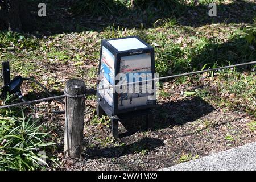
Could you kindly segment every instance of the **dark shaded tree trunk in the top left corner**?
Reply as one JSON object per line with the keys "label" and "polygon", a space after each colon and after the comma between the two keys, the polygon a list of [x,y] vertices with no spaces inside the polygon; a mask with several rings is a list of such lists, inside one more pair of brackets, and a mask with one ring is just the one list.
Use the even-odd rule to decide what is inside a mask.
{"label": "dark shaded tree trunk in the top left corner", "polygon": [[34,21],[26,1],[0,0],[0,30],[32,31]]}

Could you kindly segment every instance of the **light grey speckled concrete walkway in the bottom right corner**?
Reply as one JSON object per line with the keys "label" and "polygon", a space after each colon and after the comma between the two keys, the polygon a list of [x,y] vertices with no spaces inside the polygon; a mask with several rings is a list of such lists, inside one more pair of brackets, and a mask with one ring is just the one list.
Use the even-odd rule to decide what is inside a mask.
{"label": "light grey speckled concrete walkway in the bottom right corner", "polygon": [[256,142],[177,164],[162,171],[255,171]]}

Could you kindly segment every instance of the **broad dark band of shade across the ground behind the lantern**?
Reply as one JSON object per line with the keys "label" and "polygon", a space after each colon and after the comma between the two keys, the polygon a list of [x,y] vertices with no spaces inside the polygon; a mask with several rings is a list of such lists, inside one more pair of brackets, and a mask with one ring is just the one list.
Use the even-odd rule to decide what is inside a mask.
{"label": "broad dark band of shade across the ground behind the lantern", "polygon": [[[192,27],[212,23],[253,23],[255,13],[255,4],[248,1],[221,3],[217,5],[216,17],[208,15],[207,5],[185,5],[177,0],[152,3],[135,0],[133,8],[120,3],[117,5],[116,1],[110,0],[95,1],[94,6],[78,4],[74,8],[74,2],[76,1],[44,1],[47,16],[39,17],[39,1],[30,1],[30,10],[36,19],[34,30],[52,35],[63,32],[102,31],[113,25],[119,28],[149,28],[154,27],[156,20],[161,18],[175,18],[181,25]],[[160,24],[161,21],[156,26]]]}

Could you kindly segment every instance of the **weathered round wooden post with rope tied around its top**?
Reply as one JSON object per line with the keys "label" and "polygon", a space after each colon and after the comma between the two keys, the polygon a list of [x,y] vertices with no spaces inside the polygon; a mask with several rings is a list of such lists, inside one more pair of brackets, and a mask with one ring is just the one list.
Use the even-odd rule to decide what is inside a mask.
{"label": "weathered round wooden post with rope tied around its top", "polygon": [[[64,89],[65,133],[64,152],[71,158],[80,158],[84,131],[85,84],[82,80],[68,80]],[[78,97],[80,95],[80,97]]]}

